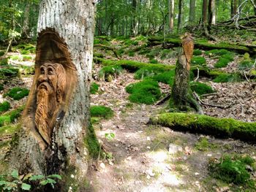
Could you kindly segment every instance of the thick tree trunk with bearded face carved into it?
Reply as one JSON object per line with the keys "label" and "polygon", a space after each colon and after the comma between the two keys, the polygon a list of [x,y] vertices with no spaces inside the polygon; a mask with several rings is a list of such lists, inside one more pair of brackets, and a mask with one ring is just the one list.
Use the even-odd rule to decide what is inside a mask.
{"label": "thick tree trunk with bearded face carved into it", "polygon": [[94,0],[42,0],[37,32],[34,80],[10,166],[20,174],[64,174],[54,191],[71,183],[83,191],[90,142],[98,144],[89,123]]}

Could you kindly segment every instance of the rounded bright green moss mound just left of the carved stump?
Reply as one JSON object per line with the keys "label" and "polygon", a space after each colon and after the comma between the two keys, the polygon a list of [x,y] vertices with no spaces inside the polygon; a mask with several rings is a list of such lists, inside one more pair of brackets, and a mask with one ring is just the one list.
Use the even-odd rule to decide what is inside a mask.
{"label": "rounded bright green moss mound just left of the carved stump", "polygon": [[158,82],[153,80],[132,83],[125,89],[131,93],[129,101],[139,104],[154,104],[161,96]]}

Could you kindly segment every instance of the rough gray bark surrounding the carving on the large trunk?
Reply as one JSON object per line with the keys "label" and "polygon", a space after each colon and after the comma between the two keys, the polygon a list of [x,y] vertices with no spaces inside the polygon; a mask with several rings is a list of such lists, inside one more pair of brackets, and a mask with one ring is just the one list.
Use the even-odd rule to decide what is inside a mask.
{"label": "rough gray bark surrounding the carving on the large trunk", "polygon": [[[39,39],[42,31],[55,31],[67,45],[74,69],[74,77],[69,77],[67,81],[75,80],[75,84],[70,88],[68,101],[65,101],[64,117],[61,117],[54,128],[53,143],[44,148],[42,146],[45,144],[37,139],[38,131],[33,129],[34,118],[28,115],[36,104],[35,75],[23,115],[20,137],[10,155],[11,166],[21,174],[73,174],[79,182],[86,175],[89,158],[89,151],[83,140],[90,126],[89,81],[94,38],[94,0],[42,0],[37,28]],[[57,53],[54,54],[54,57],[59,57]],[[42,63],[37,54],[36,73]],[[72,172],[67,172],[67,169],[72,169]]]}

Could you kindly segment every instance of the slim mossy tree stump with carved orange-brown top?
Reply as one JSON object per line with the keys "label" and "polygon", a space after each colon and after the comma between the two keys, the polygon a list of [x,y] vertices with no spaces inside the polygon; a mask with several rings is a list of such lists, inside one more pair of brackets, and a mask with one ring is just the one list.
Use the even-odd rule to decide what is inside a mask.
{"label": "slim mossy tree stump with carved orange-brown top", "polygon": [[191,34],[185,33],[181,42],[182,48],[176,62],[170,107],[174,107],[178,111],[188,111],[193,108],[201,114],[203,111],[197,101],[193,99],[192,91],[189,87],[189,70],[194,51],[194,40]]}

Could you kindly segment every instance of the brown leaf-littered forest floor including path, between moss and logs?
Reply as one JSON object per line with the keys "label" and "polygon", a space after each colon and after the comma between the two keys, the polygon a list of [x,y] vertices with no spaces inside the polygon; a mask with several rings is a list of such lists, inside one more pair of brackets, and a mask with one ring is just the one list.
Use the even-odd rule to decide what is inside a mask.
{"label": "brown leaf-littered forest floor including path, between moss and logs", "polygon": [[[120,41],[112,41],[111,46],[120,49],[124,45]],[[110,46],[108,45],[108,46]],[[139,45],[140,46],[140,43]],[[133,49],[136,46],[127,46]],[[159,46],[150,50],[159,50]],[[104,58],[117,60],[111,51],[96,50]],[[18,53],[10,53],[18,55]],[[34,55],[32,58],[34,58]],[[211,69],[217,58],[202,53],[206,58],[206,65]],[[159,63],[175,65],[176,50],[167,58],[155,55]],[[223,72],[236,72],[243,55],[236,54]],[[148,63],[145,55],[135,53],[121,55],[121,59]],[[29,66],[33,62],[12,61],[13,65]],[[91,106],[104,105],[110,107],[114,116],[110,119],[96,120],[93,124],[105,158],[89,164],[89,191],[246,191],[246,186],[225,183],[212,177],[208,169],[209,161],[219,160],[224,154],[249,155],[256,161],[256,145],[241,142],[236,139],[217,139],[201,134],[189,134],[173,131],[170,128],[148,124],[150,117],[160,112],[168,112],[168,102],[162,105],[135,104],[129,101],[129,93],[125,91],[127,85],[139,82],[134,74],[124,70],[112,81],[97,77],[100,64],[94,64],[94,82],[99,84],[99,91],[91,94]],[[4,81],[4,91],[1,91],[0,102],[10,101],[11,109],[25,104],[26,97],[15,101],[4,97],[10,88],[30,88],[33,75],[23,75]],[[249,80],[250,81],[250,80]],[[256,121],[256,90],[255,84],[243,80],[241,82],[213,82],[206,77],[200,77],[199,82],[206,82],[216,91],[204,96],[202,101],[217,104],[222,107],[203,105],[206,115],[217,118],[234,118],[246,122]],[[170,93],[170,85],[159,82],[162,93]],[[225,109],[222,109],[224,106]],[[229,107],[225,107],[229,106]],[[112,139],[106,137],[112,134]],[[5,137],[5,136],[4,136]],[[6,137],[10,140],[10,137]],[[1,139],[0,142],[3,142]],[[6,141],[4,141],[6,142]],[[0,143],[1,144],[1,143]],[[10,145],[0,145],[0,160],[10,150]],[[256,180],[256,171],[252,172],[252,179]],[[256,191],[249,188],[249,191]]]}

